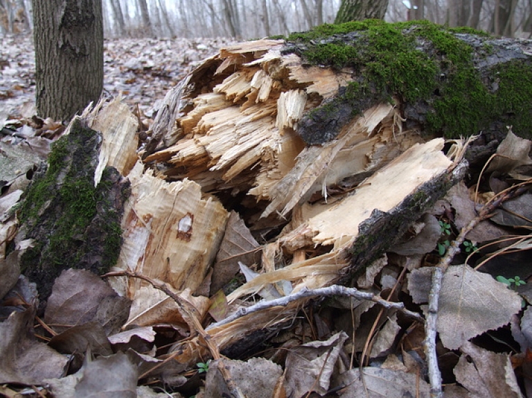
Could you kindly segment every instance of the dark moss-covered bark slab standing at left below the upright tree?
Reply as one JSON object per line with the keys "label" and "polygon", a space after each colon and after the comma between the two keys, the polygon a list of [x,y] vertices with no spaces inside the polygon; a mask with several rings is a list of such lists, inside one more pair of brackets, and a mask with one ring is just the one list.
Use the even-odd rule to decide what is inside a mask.
{"label": "dark moss-covered bark slab standing at left below the upright tree", "polygon": [[22,255],[21,271],[37,283],[44,300],[64,269],[102,273],[118,258],[130,183],[106,168],[94,186],[101,141],[98,132],[75,120],[24,194],[19,239],[33,239],[33,247]]}

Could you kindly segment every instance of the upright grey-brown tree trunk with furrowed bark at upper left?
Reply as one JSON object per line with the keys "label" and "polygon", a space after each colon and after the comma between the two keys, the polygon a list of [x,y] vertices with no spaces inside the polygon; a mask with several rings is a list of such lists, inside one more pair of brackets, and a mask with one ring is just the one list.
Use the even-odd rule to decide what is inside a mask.
{"label": "upright grey-brown tree trunk with furrowed bark at upper left", "polygon": [[103,89],[101,0],[33,0],[37,113],[67,120]]}

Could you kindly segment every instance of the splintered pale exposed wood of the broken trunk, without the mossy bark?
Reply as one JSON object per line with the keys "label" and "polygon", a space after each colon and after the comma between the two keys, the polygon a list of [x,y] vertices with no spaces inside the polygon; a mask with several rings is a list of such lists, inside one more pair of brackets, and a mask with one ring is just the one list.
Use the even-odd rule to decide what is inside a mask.
{"label": "splintered pale exposed wood of the broken trunk, without the mossy bark", "polygon": [[[130,161],[120,169],[132,182],[132,196],[118,269],[212,297],[217,291],[209,292],[211,275],[231,278],[227,270],[212,273],[211,266],[233,210],[231,234],[251,242],[245,238],[250,231],[242,229],[249,227],[263,246],[240,247],[234,243],[242,239],[228,233],[216,266],[230,263],[234,275],[249,253],[262,259],[240,265],[254,271],[246,271],[247,282],[228,294],[226,306],[254,294],[326,287],[348,269],[348,249],[373,210],[392,212],[420,186],[452,170],[442,139],[425,143],[418,131],[403,128],[398,100],[365,109],[332,141],[305,145],[297,133],[301,118],[333,98],[355,72],[305,65],[297,55],[283,55],[282,46],[260,40],[224,48],[168,94],[152,142],[139,151],[142,161],[131,172]],[[105,143],[117,141],[109,134]],[[106,153],[118,152],[106,146]],[[183,323],[164,298],[146,298],[145,282],[116,278],[113,284],[134,298],[129,323],[172,323],[172,316]],[[217,297],[211,309],[222,305]],[[222,349],[289,319],[303,303],[265,309],[209,333]],[[199,319],[209,309],[204,302],[194,306]],[[215,309],[217,317],[222,309]],[[197,360],[205,354],[201,345],[198,338],[187,341],[176,348],[182,350],[176,359]]]}

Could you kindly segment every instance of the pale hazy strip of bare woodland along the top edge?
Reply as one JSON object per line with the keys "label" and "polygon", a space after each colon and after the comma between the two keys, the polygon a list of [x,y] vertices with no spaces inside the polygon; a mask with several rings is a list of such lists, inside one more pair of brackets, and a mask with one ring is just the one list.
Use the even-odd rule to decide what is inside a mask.
{"label": "pale hazy strip of bare woodland along the top edge", "polygon": [[[103,0],[104,31],[116,37],[287,35],[332,23],[340,0]],[[30,0],[0,0],[0,34],[29,32]],[[390,0],[385,19],[429,19],[495,35],[532,35],[532,0]]]}

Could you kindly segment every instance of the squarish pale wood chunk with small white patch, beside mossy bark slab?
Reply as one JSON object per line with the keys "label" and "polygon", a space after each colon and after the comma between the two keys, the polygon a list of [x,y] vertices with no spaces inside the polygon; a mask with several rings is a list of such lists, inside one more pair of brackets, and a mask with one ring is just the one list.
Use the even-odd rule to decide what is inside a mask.
{"label": "squarish pale wood chunk with small white patch, beside mossy bark slab", "polygon": [[[142,169],[138,163],[129,175],[132,199],[117,266],[194,291],[215,258],[228,213],[217,199],[203,198],[194,181],[167,183]],[[140,287],[130,280],[127,296]]]}

